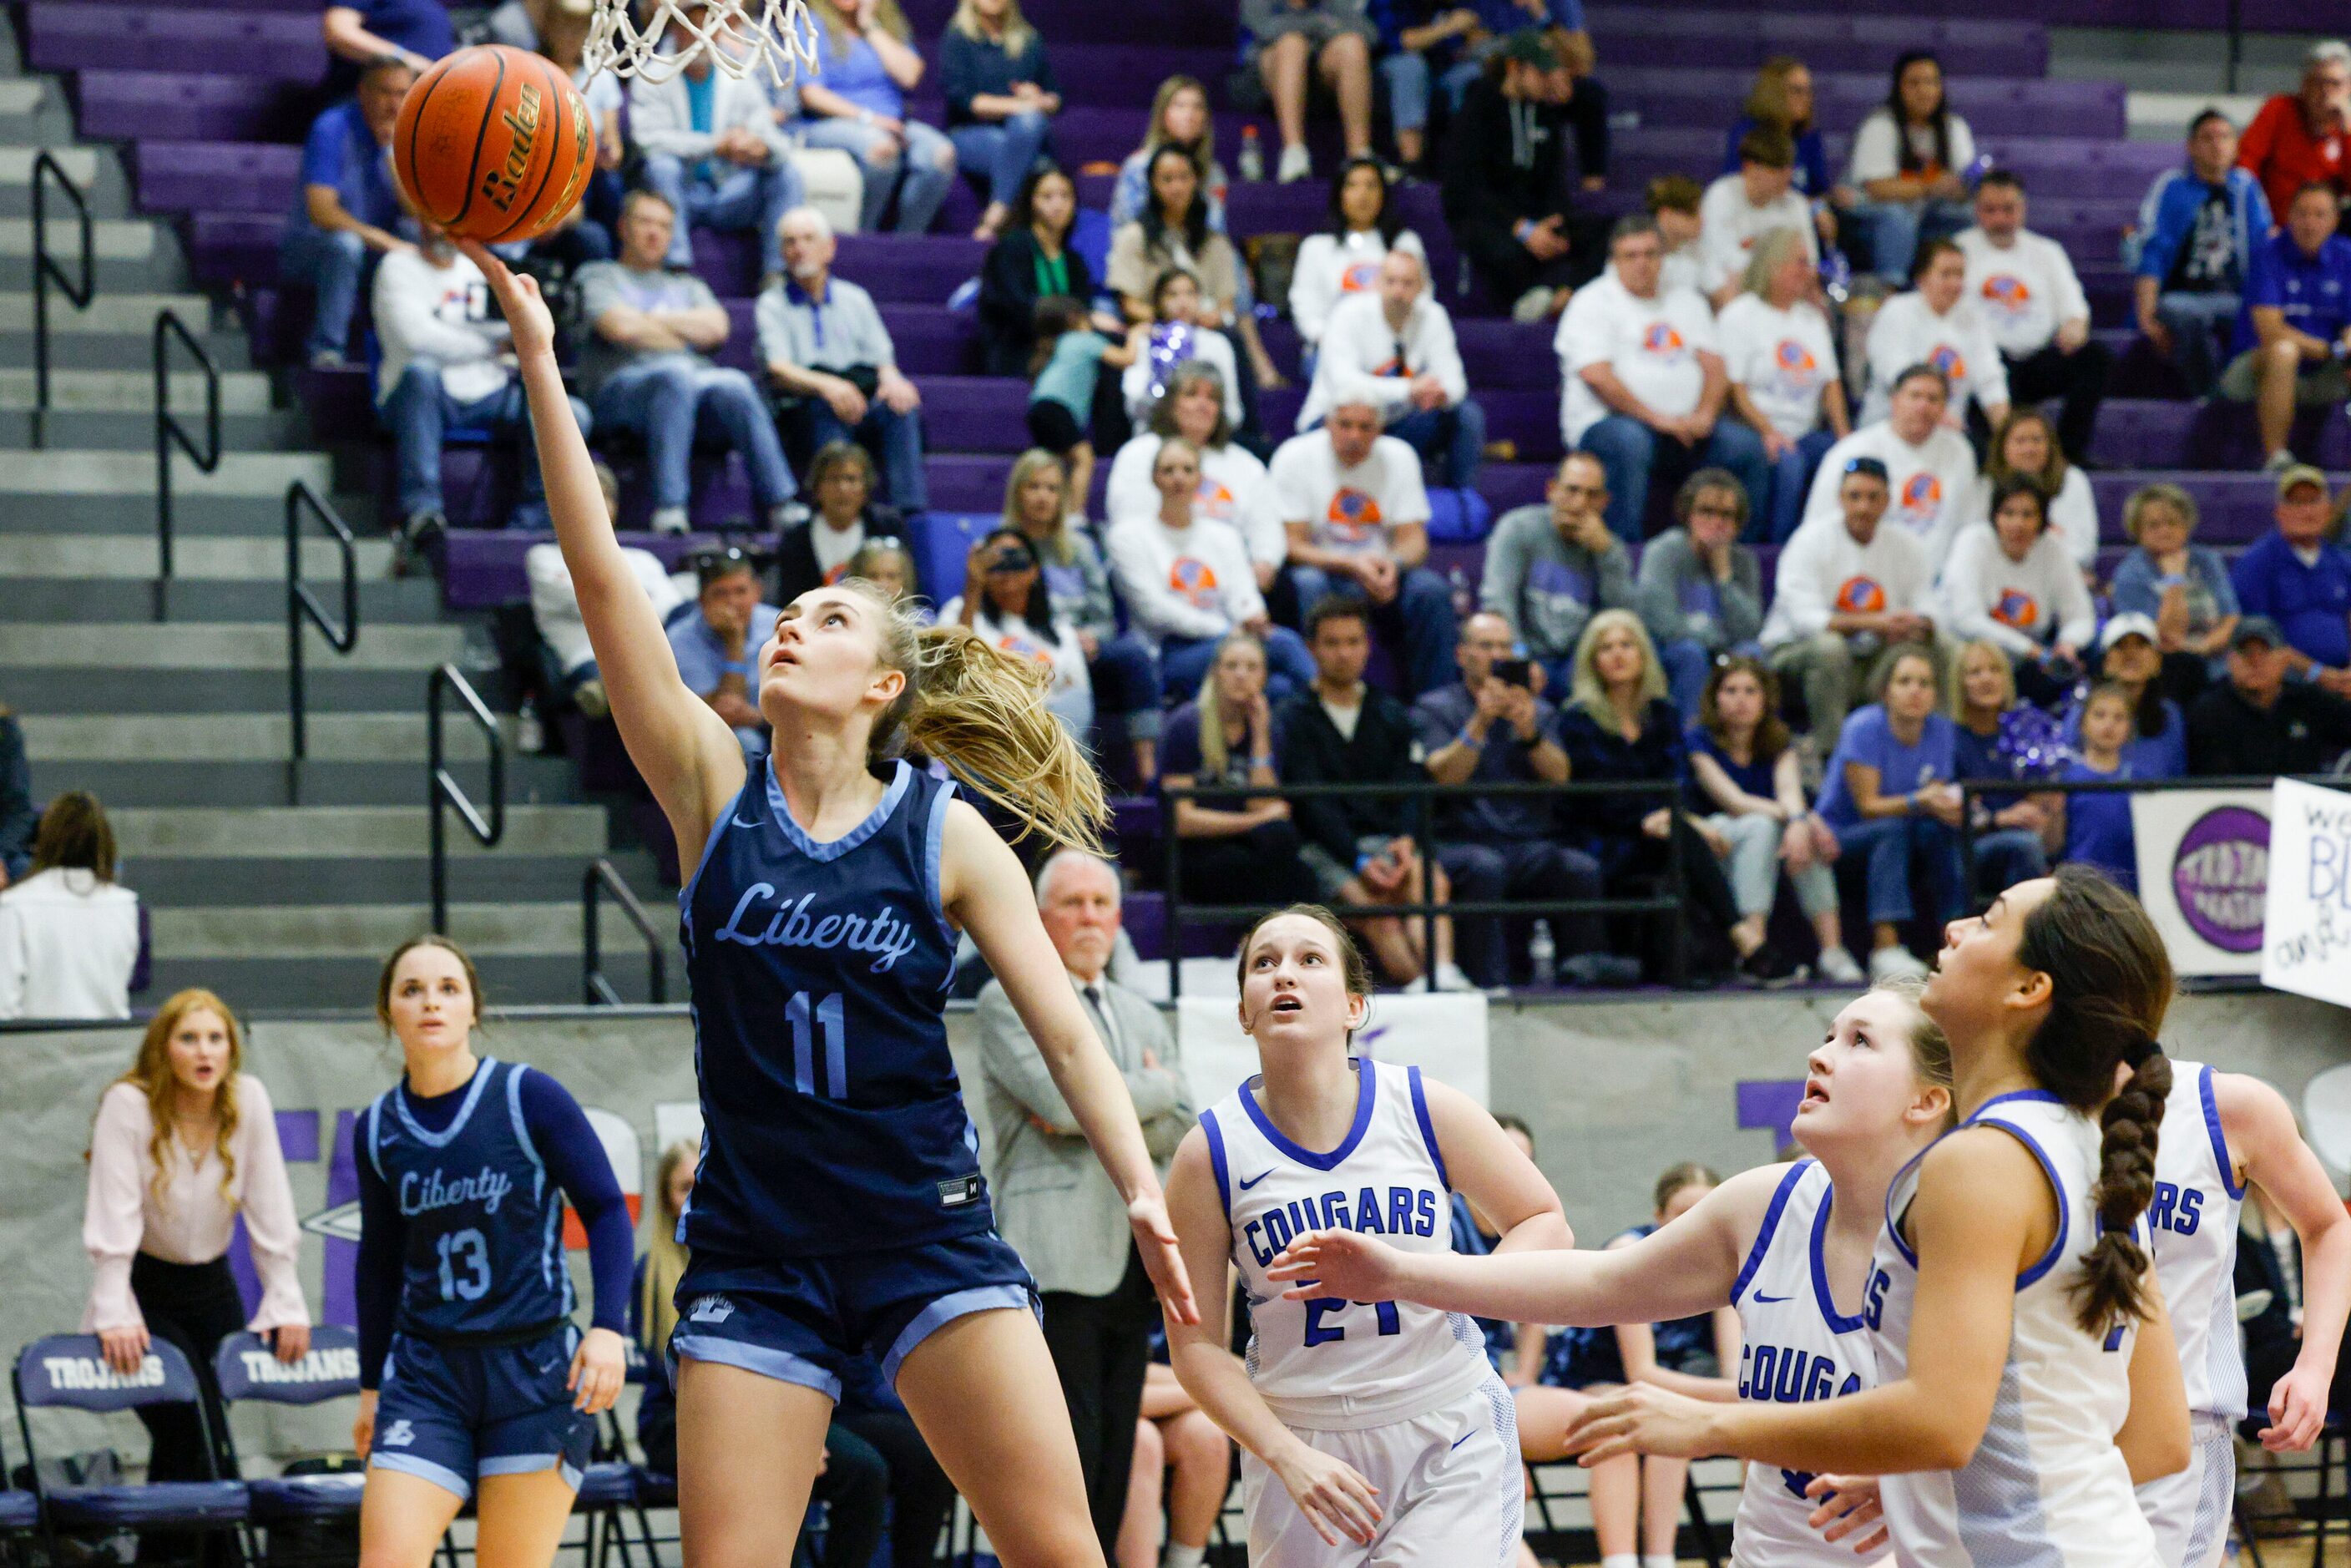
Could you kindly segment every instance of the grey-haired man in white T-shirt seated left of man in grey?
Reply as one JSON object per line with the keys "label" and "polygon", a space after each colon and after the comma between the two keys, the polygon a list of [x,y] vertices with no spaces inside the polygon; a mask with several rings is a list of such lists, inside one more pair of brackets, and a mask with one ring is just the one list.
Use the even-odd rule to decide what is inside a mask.
{"label": "grey-haired man in white T-shirt seated left of man in grey", "polygon": [[1401,644],[1411,696],[1451,684],[1453,590],[1427,567],[1420,456],[1349,397],[1321,430],[1281,442],[1272,475],[1300,611],[1326,595],[1368,599],[1373,630]]}

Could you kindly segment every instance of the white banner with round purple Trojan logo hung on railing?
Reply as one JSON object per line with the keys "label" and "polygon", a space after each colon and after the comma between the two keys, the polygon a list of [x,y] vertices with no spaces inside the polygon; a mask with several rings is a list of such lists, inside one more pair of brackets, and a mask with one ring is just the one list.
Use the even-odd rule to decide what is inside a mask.
{"label": "white banner with round purple Trojan logo hung on railing", "polygon": [[2139,903],[2182,976],[2262,973],[2269,790],[2158,790],[2130,797]]}

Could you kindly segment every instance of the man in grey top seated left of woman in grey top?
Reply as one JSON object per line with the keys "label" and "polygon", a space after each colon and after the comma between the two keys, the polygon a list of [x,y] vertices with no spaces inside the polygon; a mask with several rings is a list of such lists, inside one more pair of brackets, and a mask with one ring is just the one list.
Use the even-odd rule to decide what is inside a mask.
{"label": "man in grey top seated left of woman in grey top", "polygon": [[1479,604],[1519,628],[1528,656],[1549,670],[1552,691],[1575,684],[1575,644],[1603,609],[1641,611],[1632,552],[1608,531],[1608,470],[1570,451],[1542,505],[1502,512],[1486,536]]}

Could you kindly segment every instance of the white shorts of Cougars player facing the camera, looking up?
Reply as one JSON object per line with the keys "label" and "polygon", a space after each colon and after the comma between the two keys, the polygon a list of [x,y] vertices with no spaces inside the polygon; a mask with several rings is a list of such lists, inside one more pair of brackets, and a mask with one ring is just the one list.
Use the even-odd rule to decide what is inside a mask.
{"label": "white shorts of Cougars player facing the camera, looking up", "polygon": [[1519,1415],[1500,1378],[1448,1406],[1387,1427],[1305,1432],[1380,1488],[1371,1544],[1324,1544],[1255,1455],[1241,1455],[1251,1568],[1509,1568],[1526,1512]]}

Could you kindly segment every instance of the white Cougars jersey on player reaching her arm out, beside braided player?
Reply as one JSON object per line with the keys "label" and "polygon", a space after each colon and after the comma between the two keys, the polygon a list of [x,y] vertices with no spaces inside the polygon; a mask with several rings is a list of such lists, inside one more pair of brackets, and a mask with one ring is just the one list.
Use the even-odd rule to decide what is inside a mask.
{"label": "white Cougars jersey on player reaching her arm out, beside braided player", "polygon": [[[1740,1309],[1740,1399],[1810,1403],[1869,1387],[1869,1326],[1843,1316],[1829,1291],[1829,1173],[1799,1161],[1780,1178],[1763,1229],[1747,1251],[1730,1305]],[[1848,1568],[1850,1542],[1829,1544],[1806,1523],[1813,1476],[1749,1465],[1740,1519],[1730,1530],[1733,1568]]]}

